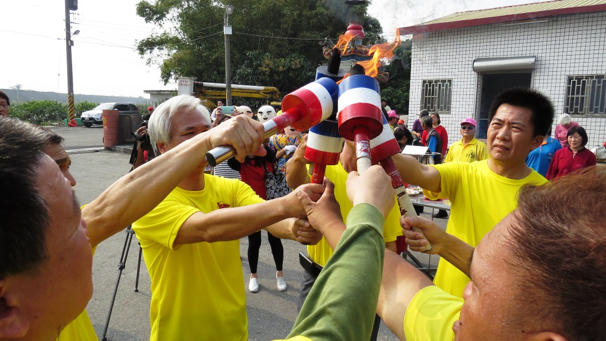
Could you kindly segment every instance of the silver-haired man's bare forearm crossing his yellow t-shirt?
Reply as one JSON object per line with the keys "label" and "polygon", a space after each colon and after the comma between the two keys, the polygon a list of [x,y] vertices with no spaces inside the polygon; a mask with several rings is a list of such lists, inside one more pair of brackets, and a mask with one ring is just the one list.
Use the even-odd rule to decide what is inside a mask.
{"label": "silver-haired man's bare forearm crossing his yellow t-shirt", "polygon": [[295,237],[287,232],[290,220],[285,220],[292,215],[285,209],[284,203],[280,202],[281,199],[238,208],[218,209],[207,214],[193,214],[179,229],[175,244],[236,240],[268,226],[271,226],[268,231],[276,237],[294,239]]}

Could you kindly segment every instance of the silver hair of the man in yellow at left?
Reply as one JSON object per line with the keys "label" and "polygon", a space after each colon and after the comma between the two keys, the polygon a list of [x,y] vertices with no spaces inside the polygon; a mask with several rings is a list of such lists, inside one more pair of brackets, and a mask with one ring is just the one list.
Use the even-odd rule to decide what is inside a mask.
{"label": "silver hair of the man in yellow at left", "polygon": [[191,111],[194,109],[200,110],[204,119],[210,124],[210,112],[208,112],[208,109],[202,106],[200,100],[194,96],[175,96],[156,107],[147,126],[147,133],[150,137],[151,146],[153,146],[156,155],[160,155],[158,143],[168,144],[168,141],[171,139],[170,129],[172,126],[172,116],[177,112]]}

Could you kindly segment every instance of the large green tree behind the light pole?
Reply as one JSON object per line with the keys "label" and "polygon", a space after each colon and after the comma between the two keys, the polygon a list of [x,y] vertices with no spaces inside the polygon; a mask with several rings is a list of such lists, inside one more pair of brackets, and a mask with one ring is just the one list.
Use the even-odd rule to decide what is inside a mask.
{"label": "large green tree behind the light pole", "polygon": [[[232,75],[248,85],[271,85],[262,82],[271,82],[276,71],[256,67],[264,61],[287,65],[291,74],[285,76],[291,83],[284,89],[296,89],[313,80],[309,75],[325,62],[319,43],[344,33],[351,15],[362,18],[368,41],[374,42],[382,32],[379,22],[365,15],[367,5],[351,7],[342,0],[143,0],[137,14],[158,25],[160,32],[138,42],[139,54],[148,64],[160,66],[165,83],[178,75],[224,83],[226,4],[235,7],[229,18]],[[262,61],[250,60],[259,56]],[[301,67],[295,67],[296,63]]]}

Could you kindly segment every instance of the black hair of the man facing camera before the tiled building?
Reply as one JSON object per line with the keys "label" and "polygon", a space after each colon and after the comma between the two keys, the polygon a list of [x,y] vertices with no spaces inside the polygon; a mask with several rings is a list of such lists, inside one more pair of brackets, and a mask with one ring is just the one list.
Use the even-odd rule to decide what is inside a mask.
{"label": "black hair of the man facing camera before the tiled building", "polygon": [[490,105],[488,122],[492,121],[494,113],[502,104],[530,109],[530,122],[534,127],[533,137],[545,136],[553,124],[553,104],[547,96],[537,90],[516,87],[501,92]]}

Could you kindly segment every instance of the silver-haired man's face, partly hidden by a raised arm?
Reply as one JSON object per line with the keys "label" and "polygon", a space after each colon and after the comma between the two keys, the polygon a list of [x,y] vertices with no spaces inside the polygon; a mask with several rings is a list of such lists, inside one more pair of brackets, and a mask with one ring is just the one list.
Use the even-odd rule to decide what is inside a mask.
{"label": "silver-haired man's face, partly hidden by a raised arm", "polygon": [[199,109],[176,112],[171,116],[170,123],[170,141],[167,144],[158,143],[162,154],[212,127]]}

